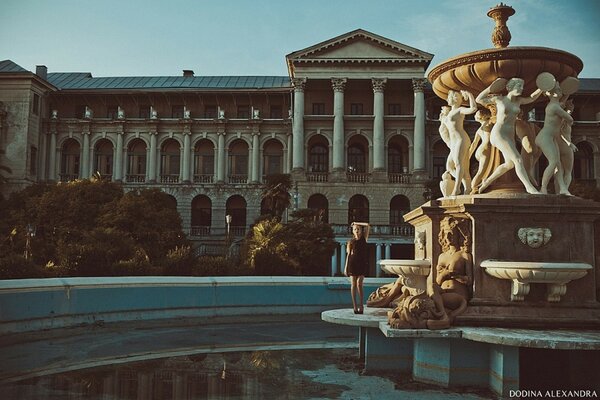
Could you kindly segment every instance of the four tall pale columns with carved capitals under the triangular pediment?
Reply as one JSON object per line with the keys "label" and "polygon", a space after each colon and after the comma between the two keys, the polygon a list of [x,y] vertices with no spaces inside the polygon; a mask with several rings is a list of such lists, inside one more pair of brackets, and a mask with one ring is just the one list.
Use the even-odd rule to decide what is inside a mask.
{"label": "four tall pale columns with carved capitals under the triangular pediment", "polygon": [[[332,170],[345,170],[344,164],[344,91],[347,78],[331,79],[333,90],[333,165]],[[294,120],[292,171],[304,170],[304,91],[306,78],[293,78],[294,87]],[[414,92],[414,136],[413,136],[413,170],[426,171],[425,165],[425,95],[424,78],[412,79]],[[385,107],[384,91],[386,78],[372,78],[373,89],[373,170],[384,171],[385,167]]]}

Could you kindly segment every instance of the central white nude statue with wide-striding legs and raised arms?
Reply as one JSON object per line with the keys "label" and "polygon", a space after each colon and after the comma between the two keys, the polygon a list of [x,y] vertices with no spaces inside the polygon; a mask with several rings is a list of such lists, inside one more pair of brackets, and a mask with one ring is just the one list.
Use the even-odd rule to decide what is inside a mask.
{"label": "central white nude statue with wide-striding legs and raised arms", "polygon": [[540,192],[529,180],[527,170],[523,165],[523,159],[517,151],[515,145],[515,125],[517,116],[521,112],[521,105],[533,103],[542,94],[542,91],[537,89],[530,96],[523,96],[525,82],[521,78],[512,78],[506,82],[508,94],[492,93],[492,89],[502,86],[505,82],[505,79],[498,78],[477,96],[479,104],[483,106],[496,106],[496,123],[491,130],[490,143],[500,150],[504,158],[504,163],[483,180],[479,188],[479,193],[485,191],[496,179],[514,168],[517,177],[525,186],[527,193],[539,194]]}

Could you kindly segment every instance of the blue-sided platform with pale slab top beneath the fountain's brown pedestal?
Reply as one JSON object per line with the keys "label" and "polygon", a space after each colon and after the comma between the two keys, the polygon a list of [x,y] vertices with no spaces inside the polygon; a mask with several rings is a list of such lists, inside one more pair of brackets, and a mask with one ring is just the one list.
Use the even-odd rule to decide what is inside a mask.
{"label": "blue-sided platform with pale slab top beneath the fountain's brown pedestal", "polygon": [[600,376],[596,379],[600,375],[600,330],[392,329],[387,323],[388,310],[365,308],[362,315],[352,309],[329,310],[321,318],[360,328],[359,348],[366,371],[397,371],[418,382],[487,387],[508,396],[511,390],[535,386],[536,382],[521,377],[543,370],[543,359],[551,351],[564,359],[565,382],[579,389],[595,389],[590,385],[600,382]]}

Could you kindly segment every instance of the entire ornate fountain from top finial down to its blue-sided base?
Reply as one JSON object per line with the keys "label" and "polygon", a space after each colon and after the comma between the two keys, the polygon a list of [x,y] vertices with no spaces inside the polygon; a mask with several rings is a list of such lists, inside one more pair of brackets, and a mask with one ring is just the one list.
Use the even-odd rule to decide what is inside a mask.
{"label": "entire ornate fountain from top finial down to its blue-sided base", "polygon": [[[557,357],[567,350],[561,363],[576,387],[589,384],[590,362],[600,360],[599,331],[583,330],[600,327],[600,204],[570,195],[572,163],[561,159],[575,150],[568,97],[583,63],[562,50],[507,47],[514,12],[502,3],[488,12],[495,48],[451,58],[428,75],[448,102],[439,132],[450,154],[443,197],[404,215],[415,228],[415,260],[381,261],[398,279],[369,296],[364,317],[322,314],[361,326],[366,370],[512,397],[523,376],[543,371],[548,353],[537,349]],[[546,104],[540,125],[524,118],[536,104]],[[477,152],[463,127],[475,113]],[[471,154],[482,164],[473,181]],[[537,182],[542,154],[548,167]],[[558,194],[548,194],[551,179]]]}

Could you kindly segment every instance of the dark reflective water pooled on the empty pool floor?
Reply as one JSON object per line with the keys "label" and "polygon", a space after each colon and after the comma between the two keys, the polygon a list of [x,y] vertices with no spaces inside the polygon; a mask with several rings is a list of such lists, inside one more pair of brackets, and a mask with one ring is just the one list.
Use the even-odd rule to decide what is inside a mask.
{"label": "dark reflective water pooled on the empty pool floor", "polygon": [[[395,376],[361,375],[356,349],[196,354],[90,368],[0,387],[22,400],[484,399]],[[486,397],[481,397],[482,395]]]}

